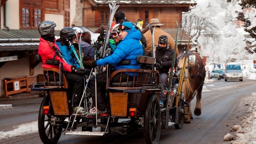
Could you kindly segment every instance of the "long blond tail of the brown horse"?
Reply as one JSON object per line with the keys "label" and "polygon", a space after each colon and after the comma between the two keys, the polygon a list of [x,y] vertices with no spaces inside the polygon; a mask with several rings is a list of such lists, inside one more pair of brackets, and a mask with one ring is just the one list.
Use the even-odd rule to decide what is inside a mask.
{"label": "long blond tail of the brown horse", "polygon": [[[180,68],[183,67],[184,60],[185,60],[184,57],[179,60],[178,67],[180,67]],[[188,61],[186,61],[186,66],[188,66]],[[190,102],[192,100],[191,96],[193,95],[193,88],[192,88],[192,84],[191,84],[192,78],[190,76],[188,69],[186,69],[185,72],[188,74],[188,77],[183,82],[182,91],[185,91],[184,99],[187,102]]]}

